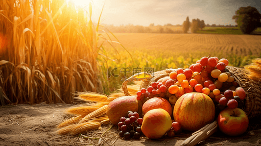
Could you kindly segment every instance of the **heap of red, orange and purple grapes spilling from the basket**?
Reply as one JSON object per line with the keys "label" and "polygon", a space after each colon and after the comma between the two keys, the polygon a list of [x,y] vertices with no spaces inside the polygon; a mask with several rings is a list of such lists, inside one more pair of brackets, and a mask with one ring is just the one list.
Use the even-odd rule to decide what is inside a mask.
{"label": "heap of red, orange and purple grapes spilling from the basket", "polygon": [[147,89],[142,88],[137,92],[137,99],[144,103],[152,97],[162,97],[175,105],[177,99],[185,93],[202,92],[213,99],[218,110],[223,110],[226,106],[231,109],[242,108],[245,91],[226,72],[228,64],[229,61],[225,58],[219,60],[217,57],[202,57],[191,64],[189,69],[178,68],[169,76],[152,82]]}

